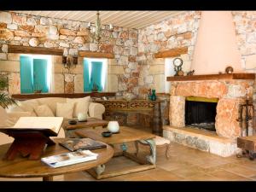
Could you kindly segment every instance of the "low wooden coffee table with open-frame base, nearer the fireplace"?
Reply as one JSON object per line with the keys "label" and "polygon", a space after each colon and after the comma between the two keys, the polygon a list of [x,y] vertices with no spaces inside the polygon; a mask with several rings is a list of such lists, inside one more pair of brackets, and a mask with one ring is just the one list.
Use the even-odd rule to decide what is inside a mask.
{"label": "low wooden coffee table with open-frame base, nearer the fireplace", "polygon": [[[111,137],[102,137],[102,129],[88,129],[88,130],[80,130],[76,131],[76,134],[80,137],[89,137],[97,141],[101,141],[103,143],[108,143],[113,146],[114,144],[121,144],[122,153],[113,154],[114,157],[124,155],[125,157],[136,161],[141,164],[139,166],[133,166],[124,168],[115,172],[104,172],[105,165],[97,166],[96,169],[90,169],[89,172],[93,177],[97,179],[106,178],[106,177],[115,177],[119,175],[128,174],[131,172],[141,172],[148,169],[155,168],[155,143],[153,138],[155,137],[153,134],[148,133],[146,131],[140,131],[127,126],[120,126],[119,133],[113,134]],[[137,153],[131,154],[126,152],[127,147],[125,143],[135,142],[137,147]],[[150,155],[146,157],[146,160],[138,158],[138,143],[148,143],[150,147]]]}

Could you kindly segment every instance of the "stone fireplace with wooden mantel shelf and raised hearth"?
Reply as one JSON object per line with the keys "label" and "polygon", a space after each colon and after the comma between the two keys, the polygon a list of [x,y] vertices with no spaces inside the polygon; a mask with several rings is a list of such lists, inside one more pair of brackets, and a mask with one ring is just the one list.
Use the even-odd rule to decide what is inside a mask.
{"label": "stone fireplace with wooden mantel shelf and raised hearth", "polygon": [[255,74],[176,76],[167,80],[171,81],[170,125],[163,127],[163,136],[224,157],[238,153],[239,108],[245,99],[253,98]]}

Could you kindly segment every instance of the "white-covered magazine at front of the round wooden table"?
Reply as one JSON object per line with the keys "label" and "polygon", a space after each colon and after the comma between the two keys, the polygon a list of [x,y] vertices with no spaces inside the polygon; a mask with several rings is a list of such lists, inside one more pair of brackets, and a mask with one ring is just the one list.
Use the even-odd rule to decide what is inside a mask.
{"label": "white-covered magazine at front of the round wooden table", "polygon": [[96,160],[98,154],[92,153],[90,150],[78,150],[65,154],[56,154],[49,157],[44,157],[41,160],[54,168],[61,166],[70,166],[77,163],[82,163],[90,160]]}

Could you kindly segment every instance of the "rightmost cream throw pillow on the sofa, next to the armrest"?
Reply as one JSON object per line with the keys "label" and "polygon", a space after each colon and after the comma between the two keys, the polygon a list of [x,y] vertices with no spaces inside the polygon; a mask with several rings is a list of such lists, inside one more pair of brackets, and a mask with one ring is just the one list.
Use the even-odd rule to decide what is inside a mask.
{"label": "rightmost cream throw pillow on the sofa, next to the armrest", "polygon": [[78,99],[67,98],[67,103],[74,103],[73,117],[77,118],[79,113],[85,113],[88,115],[90,96]]}

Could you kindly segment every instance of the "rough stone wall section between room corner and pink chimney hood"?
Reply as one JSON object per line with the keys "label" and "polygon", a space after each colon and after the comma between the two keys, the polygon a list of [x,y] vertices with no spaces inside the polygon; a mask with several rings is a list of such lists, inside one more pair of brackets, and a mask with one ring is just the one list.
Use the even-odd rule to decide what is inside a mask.
{"label": "rough stone wall section between room corner and pink chimney hood", "polygon": [[172,19],[144,27],[138,31],[138,56],[140,67],[139,94],[143,97],[149,88],[165,92],[165,59],[154,59],[159,51],[187,47],[188,52],[180,55],[183,71],[189,72],[201,12],[186,11]]}

